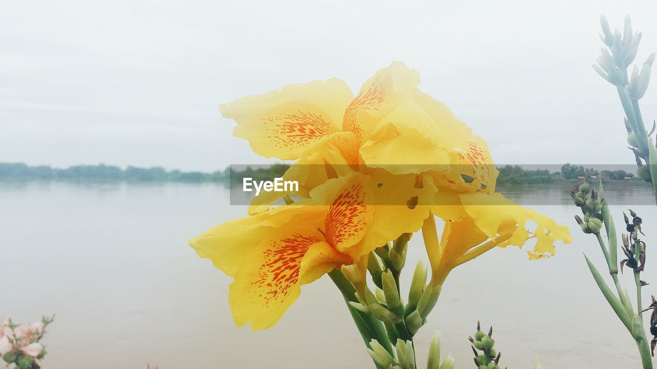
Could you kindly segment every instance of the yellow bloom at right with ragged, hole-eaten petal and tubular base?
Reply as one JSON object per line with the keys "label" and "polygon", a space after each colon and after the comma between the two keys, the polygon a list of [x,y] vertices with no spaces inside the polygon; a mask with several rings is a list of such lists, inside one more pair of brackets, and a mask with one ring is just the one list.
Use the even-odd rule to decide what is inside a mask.
{"label": "yellow bloom at right with ragged, hole-eaten petal and tubular base", "polygon": [[530,238],[536,243],[524,250],[530,259],[555,254],[554,243],[568,244],[572,237],[568,227],[560,226],[549,217],[532,209],[518,206],[501,194],[455,194],[438,192],[440,204],[432,214],[445,221],[442,239],[438,242],[433,215],[424,222],[422,235],[432,266],[432,280],[438,284],[447,274],[495,246],[522,246]]}

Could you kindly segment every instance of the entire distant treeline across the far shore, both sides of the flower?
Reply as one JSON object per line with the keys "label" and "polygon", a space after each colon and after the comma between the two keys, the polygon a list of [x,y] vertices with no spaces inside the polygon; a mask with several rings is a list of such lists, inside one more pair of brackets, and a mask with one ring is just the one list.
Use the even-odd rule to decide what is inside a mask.
{"label": "entire distant treeline across the far shore, both sides of the flower", "polygon": [[[79,181],[79,182],[187,182],[187,183],[225,183],[238,185],[244,177],[255,181],[269,181],[282,177],[290,167],[288,164],[274,164],[267,167],[245,167],[238,171],[228,167],[223,171],[202,173],[198,171],[168,171],[162,167],[122,169],[113,165],[76,165],[66,169],[57,169],[48,165],[30,167],[24,163],[0,163],[0,181]],[[498,183],[511,185],[532,185],[535,183],[555,183],[558,181],[589,177],[603,180],[634,179],[632,173],[623,170],[597,171],[581,165],[566,163],[560,171],[547,169],[524,169],[518,165],[498,167]]]}

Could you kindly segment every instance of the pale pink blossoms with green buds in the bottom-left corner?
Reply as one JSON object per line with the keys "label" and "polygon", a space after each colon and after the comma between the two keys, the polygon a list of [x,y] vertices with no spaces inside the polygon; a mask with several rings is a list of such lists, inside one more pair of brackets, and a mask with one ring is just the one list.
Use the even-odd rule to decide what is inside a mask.
{"label": "pale pink blossoms with green buds in the bottom-left corner", "polygon": [[45,328],[53,322],[43,317],[32,324],[15,324],[9,316],[0,317],[0,357],[4,362],[14,364],[18,369],[38,369],[39,360],[46,355],[41,338]]}

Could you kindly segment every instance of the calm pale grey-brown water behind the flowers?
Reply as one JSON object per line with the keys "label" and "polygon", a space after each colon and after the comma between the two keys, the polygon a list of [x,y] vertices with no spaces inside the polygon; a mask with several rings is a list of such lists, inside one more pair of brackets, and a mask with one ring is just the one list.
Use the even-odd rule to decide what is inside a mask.
{"label": "calm pale grey-brown water behind the flowers", "polygon": [[[585,265],[582,253],[604,269],[595,238],[573,220],[578,209],[566,190],[501,190],[568,225],[575,242],[541,261],[516,248],[493,250],[453,271],[417,336],[420,368],[434,330],[457,368],[470,368],[467,337],[477,320],[494,326],[503,366],[533,368],[539,355],[546,369],[640,367],[635,343]],[[643,217],[650,248],[657,240],[648,226],[657,222],[651,190],[612,185],[608,198],[619,227],[627,207]],[[231,279],[186,241],[246,214],[228,200],[217,185],[0,183],[1,312],[20,322],[57,314],[45,338],[46,369],[144,369],[147,362],[162,369],[373,368],[327,277],[304,286],[275,327],[233,325]],[[644,279],[657,286],[653,255]],[[409,269],[420,258],[417,234]],[[633,294],[631,274],[621,278]],[[652,286],[644,288],[645,304],[657,293]]]}

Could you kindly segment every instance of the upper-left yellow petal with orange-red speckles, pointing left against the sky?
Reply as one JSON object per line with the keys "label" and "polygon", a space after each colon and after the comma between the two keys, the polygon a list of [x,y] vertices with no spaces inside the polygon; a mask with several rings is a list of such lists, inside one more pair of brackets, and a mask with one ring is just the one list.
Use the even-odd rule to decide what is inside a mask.
{"label": "upper-left yellow petal with orange-red speckles, pointing left against the sky", "polygon": [[340,131],[351,98],[344,81],[333,78],[240,98],[220,108],[224,117],[237,121],[233,134],[248,140],[254,152],[295,160]]}

